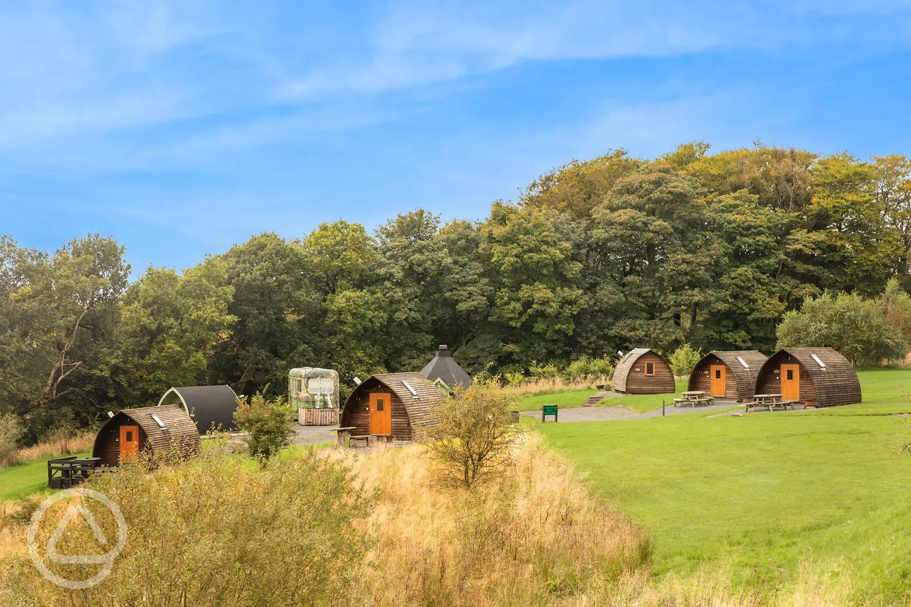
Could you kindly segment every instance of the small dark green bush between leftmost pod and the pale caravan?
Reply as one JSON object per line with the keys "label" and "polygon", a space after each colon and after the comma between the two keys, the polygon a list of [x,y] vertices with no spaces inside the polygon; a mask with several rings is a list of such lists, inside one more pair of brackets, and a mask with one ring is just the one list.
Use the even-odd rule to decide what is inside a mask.
{"label": "small dark green bush between leftmost pod and the pale caravan", "polygon": [[250,454],[265,466],[282,447],[291,444],[293,410],[284,404],[281,396],[266,400],[262,392],[249,400],[238,397],[234,421],[241,430],[250,433],[247,445]]}

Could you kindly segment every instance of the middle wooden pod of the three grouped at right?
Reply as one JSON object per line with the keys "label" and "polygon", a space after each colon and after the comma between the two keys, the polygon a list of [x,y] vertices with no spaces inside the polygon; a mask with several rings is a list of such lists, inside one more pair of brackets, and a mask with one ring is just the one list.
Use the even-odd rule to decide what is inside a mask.
{"label": "middle wooden pod of the three grouped at right", "polygon": [[687,389],[716,399],[752,400],[756,376],[767,358],[757,349],[709,352],[692,368]]}

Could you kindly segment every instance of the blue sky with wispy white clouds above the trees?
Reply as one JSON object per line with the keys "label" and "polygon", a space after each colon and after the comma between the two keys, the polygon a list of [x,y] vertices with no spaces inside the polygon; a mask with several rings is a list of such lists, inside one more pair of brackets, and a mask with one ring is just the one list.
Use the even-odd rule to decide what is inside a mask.
{"label": "blue sky with wispy white clouds above the trees", "polygon": [[484,218],[625,147],[911,155],[907,2],[0,6],[0,233],[134,270],[252,234]]}

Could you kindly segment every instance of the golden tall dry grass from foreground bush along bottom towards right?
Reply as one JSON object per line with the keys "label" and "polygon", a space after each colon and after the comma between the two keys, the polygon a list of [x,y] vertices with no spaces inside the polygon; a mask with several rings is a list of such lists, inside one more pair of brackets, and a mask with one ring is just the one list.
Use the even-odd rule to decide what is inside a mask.
{"label": "golden tall dry grass from foreground bush along bottom towards right", "polygon": [[376,544],[352,604],[610,607],[835,607],[851,587],[804,566],[787,592],[760,575],[734,588],[711,569],[656,580],[648,532],[594,498],[535,436],[517,464],[480,491],[435,486],[419,447],[341,454],[381,492]]}

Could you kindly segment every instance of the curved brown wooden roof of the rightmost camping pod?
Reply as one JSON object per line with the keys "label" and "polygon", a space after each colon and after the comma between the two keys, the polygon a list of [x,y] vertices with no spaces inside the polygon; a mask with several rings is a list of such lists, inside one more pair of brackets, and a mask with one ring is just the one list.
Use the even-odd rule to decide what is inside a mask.
{"label": "curved brown wooden roof of the rightmost camping pod", "polygon": [[[841,352],[833,348],[783,348],[775,352],[763,364],[763,369],[756,377],[756,384],[762,379],[766,368],[775,357],[782,352],[787,352],[793,359],[800,363],[801,367],[813,379],[813,385],[816,389],[816,401],[822,406],[830,405],[851,405],[862,401],[860,379],[857,379],[857,371],[851,366],[848,359],[842,356]],[[825,365],[819,364],[814,359],[814,355]]]}

